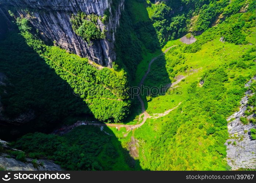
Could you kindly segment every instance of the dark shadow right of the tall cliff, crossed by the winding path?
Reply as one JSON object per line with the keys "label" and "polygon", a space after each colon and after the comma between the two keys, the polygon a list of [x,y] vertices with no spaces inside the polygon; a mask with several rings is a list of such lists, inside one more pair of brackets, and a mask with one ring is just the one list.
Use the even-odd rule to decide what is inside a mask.
{"label": "dark shadow right of the tall cliff, crossed by the winding path", "polygon": [[[134,2],[143,4],[143,8],[139,10],[140,12],[133,11],[134,7],[132,6]],[[131,83],[134,83],[133,81],[136,79],[136,77],[138,77],[136,76],[136,69],[138,64],[143,59],[142,55],[146,56],[149,53],[155,53],[161,49],[155,28],[152,25],[153,22],[148,16],[146,6],[146,1],[126,0],[125,11],[123,11],[121,14],[120,27],[116,32],[116,62],[119,64],[119,66],[127,71],[131,81],[130,85]],[[141,20],[140,14],[145,15],[143,17],[147,17],[147,19]],[[142,69],[141,73],[138,73],[139,76],[145,75],[151,59],[153,58],[149,58],[147,60],[144,67],[145,69]],[[166,71],[165,63],[166,61],[164,55],[158,56],[157,59],[152,63],[150,72],[144,81],[144,86],[150,88],[148,91],[152,90],[152,87],[160,87],[160,85],[165,86],[171,83]],[[136,83],[136,86],[140,87],[139,83]],[[124,120],[124,123],[133,121],[136,116],[141,114],[142,111],[141,103],[137,96],[132,93],[132,91],[133,90],[131,90],[131,95],[134,99],[132,100],[131,111],[129,116]],[[145,91],[141,95],[141,98],[144,101],[145,109],[148,108],[146,96],[149,94],[150,93]],[[155,96],[157,95],[153,95],[152,97]]]}

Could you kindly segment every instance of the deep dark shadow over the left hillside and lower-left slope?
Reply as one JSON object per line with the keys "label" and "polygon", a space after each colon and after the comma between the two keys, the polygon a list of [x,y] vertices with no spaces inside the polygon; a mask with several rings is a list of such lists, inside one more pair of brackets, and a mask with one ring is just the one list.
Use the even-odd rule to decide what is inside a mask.
{"label": "deep dark shadow over the left hillside and lower-left slope", "polygon": [[[0,27],[6,27],[5,22]],[[32,158],[50,158],[68,170],[141,170],[111,130],[107,135],[99,127],[81,126],[63,137],[47,135],[56,127],[92,120],[90,110],[17,29],[1,33],[0,139],[20,138],[13,147]]]}

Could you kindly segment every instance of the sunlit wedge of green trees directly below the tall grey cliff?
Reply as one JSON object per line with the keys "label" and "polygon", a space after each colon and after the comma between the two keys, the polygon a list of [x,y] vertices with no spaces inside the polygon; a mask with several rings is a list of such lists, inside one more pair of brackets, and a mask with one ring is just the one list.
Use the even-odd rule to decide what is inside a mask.
{"label": "sunlit wedge of green trees directly below the tall grey cliff", "polygon": [[93,115],[102,121],[120,122],[128,113],[126,72],[109,68],[97,70],[88,59],[67,53],[56,46],[47,46],[30,33],[27,19],[17,19],[27,45],[31,46],[66,81],[87,104]]}

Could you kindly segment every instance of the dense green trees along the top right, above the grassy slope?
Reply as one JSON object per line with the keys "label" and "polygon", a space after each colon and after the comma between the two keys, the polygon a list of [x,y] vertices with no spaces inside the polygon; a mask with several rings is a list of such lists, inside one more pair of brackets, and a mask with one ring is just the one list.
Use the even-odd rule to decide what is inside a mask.
{"label": "dense green trees along the top right, above the grassy slope", "polygon": [[[184,36],[188,31],[200,34],[211,27],[212,23],[221,23],[230,15],[239,12],[246,4],[246,11],[254,11],[255,7],[253,0],[246,1],[246,4],[245,0],[165,0],[156,4],[148,0],[147,3],[149,17],[153,21],[161,46],[168,40]],[[232,32],[241,25],[230,26],[223,30],[226,32],[226,41],[244,39],[240,32]],[[234,38],[238,34],[240,38]],[[235,43],[240,44],[241,41]]]}

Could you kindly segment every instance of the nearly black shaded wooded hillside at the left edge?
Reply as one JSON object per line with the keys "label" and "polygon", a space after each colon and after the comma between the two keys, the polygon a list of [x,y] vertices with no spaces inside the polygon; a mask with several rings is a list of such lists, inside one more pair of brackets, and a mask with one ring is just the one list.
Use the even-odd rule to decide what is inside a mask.
{"label": "nearly black shaded wooded hillside at the left edge", "polygon": [[0,57],[0,72],[6,77],[6,85],[0,86],[1,113],[10,120],[21,114],[32,116],[25,126],[2,126],[1,138],[15,138],[27,131],[51,132],[59,122],[74,122],[78,116],[90,114],[85,102],[17,31],[10,31],[0,40]]}

